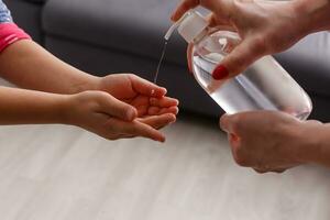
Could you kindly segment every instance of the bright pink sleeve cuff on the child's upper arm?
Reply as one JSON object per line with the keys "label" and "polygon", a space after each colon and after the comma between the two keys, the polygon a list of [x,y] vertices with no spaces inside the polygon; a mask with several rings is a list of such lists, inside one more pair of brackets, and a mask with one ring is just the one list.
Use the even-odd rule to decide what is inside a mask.
{"label": "bright pink sleeve cuff on the child's upper arm", "polygon": [[0,53],[10,44],[28,38],[31,40],[22,29],[14,23],[0,23]]}

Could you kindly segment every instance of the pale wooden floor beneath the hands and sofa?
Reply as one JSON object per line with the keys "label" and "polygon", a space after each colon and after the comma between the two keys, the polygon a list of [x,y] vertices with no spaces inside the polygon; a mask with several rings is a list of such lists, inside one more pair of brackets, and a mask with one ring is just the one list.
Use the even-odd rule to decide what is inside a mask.
{"label": "pale wooden floor beneath the hands and sofa", "polygon": [[63,125],[0,127],[0,219],[330,219],[330,170],[238,167],[217,123],[194,117],[165,132],[162,145]]}

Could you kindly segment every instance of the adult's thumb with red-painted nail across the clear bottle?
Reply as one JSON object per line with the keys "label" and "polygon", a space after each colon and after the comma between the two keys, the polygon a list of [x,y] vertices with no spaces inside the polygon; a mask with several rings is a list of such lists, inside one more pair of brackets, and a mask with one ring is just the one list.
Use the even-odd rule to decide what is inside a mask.
{"label": "adult's thumb with red-painted nail across the clear bottle", "polygon": [[261,41],[243,40],[229,55],[227,55],[220,65],[218,65],[212,77],[216,80],[223,80],[235,77],[243,73],[250,65],[262,57],[266,50]]}

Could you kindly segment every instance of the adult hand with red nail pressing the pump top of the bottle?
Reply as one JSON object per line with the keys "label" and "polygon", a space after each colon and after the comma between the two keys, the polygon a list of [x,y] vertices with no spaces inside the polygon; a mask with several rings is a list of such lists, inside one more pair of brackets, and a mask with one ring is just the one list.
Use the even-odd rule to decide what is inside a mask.
{"label": "adult hand with red nail pressing the pump top of the bottle", "polygon": [[201,6],[212,11],[211,26],[238,32],[242,42],[213,73],[223,79],[242,73],[264,55],[287,50],[312,31],[327,29],[329,4],[323,0],[184,0],[172,20],[177,21],[189,9]]}

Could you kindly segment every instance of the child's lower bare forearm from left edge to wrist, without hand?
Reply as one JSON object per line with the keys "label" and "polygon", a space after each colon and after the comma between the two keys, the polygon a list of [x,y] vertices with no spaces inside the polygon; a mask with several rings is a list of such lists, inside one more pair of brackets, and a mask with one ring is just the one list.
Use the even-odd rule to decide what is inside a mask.
{"label": "child's lower bare forearm from left edge to wrist, without hand", "polygon": [[67,96],[0,87],[0,124],[65,123]]}

